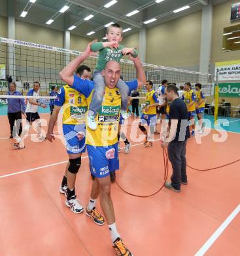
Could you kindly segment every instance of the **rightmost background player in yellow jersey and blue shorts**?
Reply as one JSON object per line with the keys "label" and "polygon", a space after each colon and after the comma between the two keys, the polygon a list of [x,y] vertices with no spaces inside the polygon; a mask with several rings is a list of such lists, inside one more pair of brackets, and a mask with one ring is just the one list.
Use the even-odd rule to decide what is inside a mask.
{"label": "rightmost background player in yellow jersey and blue shorts", "polygon": [[204,96],[204,93],[201,89],[201,83],[196,83],[196,114],[198,119],[198,125],[199,125],[199,133],[203,133],[204,125],[203,125],[203,113],[205,108],[205,101],[206,98]]}

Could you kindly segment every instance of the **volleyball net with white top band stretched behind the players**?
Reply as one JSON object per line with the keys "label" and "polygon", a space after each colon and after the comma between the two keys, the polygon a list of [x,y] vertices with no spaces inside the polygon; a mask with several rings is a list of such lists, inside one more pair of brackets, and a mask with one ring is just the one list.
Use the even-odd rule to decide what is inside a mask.
{"label": "volleyball net with white top band stretched behind the players", "polygon": [[[60,79],[59,73],[79,54],[81,52],[0,37],[0,95],[6,95],[9,91],[7,75],[12,77],[16,89],[23,95],[33,87],[33,81],[41,83],[40,95],[48,95],[52,85],[61,87],[65,84]],[[96,63],[97,57],[91,56],[83,64],[89,66],[93,74]],[[136,78],[133,62],[124,59],[121,60],[120,66],[125,81]],[[205,95],[214,95],[214,84],[210,74],[145,63],[143,68],[146,79],[154,83],[154,89],[166,79],[170,83],[176,83],[178,87],[186,82],[190,82],[193,86],[201,83]],[[145,93],[146,89],[143,87],[140,95],[145,96]]]}

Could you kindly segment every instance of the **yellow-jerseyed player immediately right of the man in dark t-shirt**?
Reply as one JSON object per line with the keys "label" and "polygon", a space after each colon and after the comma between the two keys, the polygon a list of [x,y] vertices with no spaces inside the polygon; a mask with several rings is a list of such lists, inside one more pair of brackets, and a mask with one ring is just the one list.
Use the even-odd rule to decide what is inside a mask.
{"label": "yellow-jerseyed player immediately right of the man in dark t-shirt", "polygon": [[195,135],[195,102],[196,102],[196,95],[194,94],[194,91],[192,90],[191,83],[185,83],[184,85],[184,93],[182,95],[182,100],[185,102],[187,108],[188,108],[188,119],[190,121],[190,124],[192,125],[192,132],[191,135]]}

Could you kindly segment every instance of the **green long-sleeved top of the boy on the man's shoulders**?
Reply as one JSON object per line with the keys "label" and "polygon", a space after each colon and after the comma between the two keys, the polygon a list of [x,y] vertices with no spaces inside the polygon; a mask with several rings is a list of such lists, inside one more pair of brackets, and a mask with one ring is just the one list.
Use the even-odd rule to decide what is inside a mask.
{"label": "green long-sleeved top of the boy on the man's shoulders", "polygon": [[[124,45],[119,45],[118,49],[103,47],[102,42],[95,42],[91,46],[91,50],[94,52],[99,51],[99,56],[97,60],[97,65],[95,66],[95,71],[101,71],[105,69],[107,62],[111,60],[115,60],[116,62],[120,62],[121,58],[124,56],[122,54],[122,49],[124,49]],[[135,54],[133,57],[137,57],[137,51],[134,50]]]}

